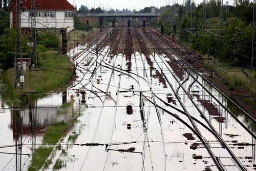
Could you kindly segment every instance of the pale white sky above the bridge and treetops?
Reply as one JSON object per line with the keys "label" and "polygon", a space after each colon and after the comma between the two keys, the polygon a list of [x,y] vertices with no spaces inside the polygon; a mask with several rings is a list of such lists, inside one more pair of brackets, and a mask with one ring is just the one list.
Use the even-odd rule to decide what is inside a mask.
{"label": "pale white sky above the bridge and treetops", "polygon": [[[157,6],[157,7],[161,7],[161,6],[166,6],[166,5],[172,5],[172,3],[175,0],[74,0],[75,4],[77,6],[77,9],[80,8],[81,5],[85,5],[88,6],[89,9],[91,9],[92,7],[97,8],[97,7],[101,7],[105,10],[109,10],[110,8],[113,8],[114,10],[118,9],[118,10],[122,10],[124,9],[128,9],[128,10],[140,10],[143,9],[145,7],[149,7],[151,6],[151,4],[153,4],[153,6]],[[196,4],[200,4],[203,0],[195,0]],[[208,1],[208,0],[206,0]],[[226,3],[227,0],[223,0],[224,3]],[[229,5],[233,5],[234,0],[228,0],[229,1]],[[69,3],[73,4],[73,0],[68,0]],[[178,0],[179,4],[183,3],[183,0]]]}

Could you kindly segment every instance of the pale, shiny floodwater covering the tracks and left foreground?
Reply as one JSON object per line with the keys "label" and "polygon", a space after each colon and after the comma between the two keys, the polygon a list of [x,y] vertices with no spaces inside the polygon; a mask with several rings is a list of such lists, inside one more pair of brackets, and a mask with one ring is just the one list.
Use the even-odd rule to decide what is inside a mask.
{"label": "pale, shiny floodwater covering the tracks and left foreground", "polygon": [[[127,72],[125,57],[121,54],[109,55],[110,47],[102,49],[101,54],[97,57],[89,51],[81,53],[86,46],[74,49],[75,53],[80,54],[73,61],[74,64],[78,64],[77,79],[73,82],[73,86],[67,89],[67,100],[70,100],[73,95],[74,108],[80,111],[81,116],[77,118],[78,122],[60,142],[61,150],[55,150],[52,164],[45,170],[52,170],[57,159],[63,162],[63,167],[60,170],[218,170],[204,144],[192,131],[195,129],[194,125],[207,140],[210,150],[214,156],[219,158],[221,165],[226,170],[239,170],[231,155],[209,132],[208,129],[211,128],[208,122],[200,116],[198,109],[205,115],[214,131],[226,142],[242,165],[247,170],[254,170],[256,164],[255,139],[228,111],[218,104],[216,99],[209,96],[200,84],[212,92],[217,100],[221,101],[221,104],[228,107],[227,100],[200,77],[198,79],[200,84],[193,83],[194,79],[190,76],[183,84],[184,89],[179,88],[182,81],[175,81],[177,77],[167,65],[165,61],[167,59],[157,55],[155,58],[151,56],[156,70],[160,73],[162,70],[162,74],[166,76],[167,88],[163,88],[158,77],[150,77],[151,74],[155,75],[156,71],[153,70],[150,73],[143,54],[140,55],[136,52],[132,55],[131,71]],[[73,55],[70,54],[71,57]],[[157,63],[159,64],[157,65]],[[113,69],[113,66],[116,68]],[[120,72],[120,68],[122,68],[122,72]],[[194,73],[192,75],[196,76]],[[187,76],[188,73],[185,72],[184,78]],[[192,83],[190,88],[189,85]],[[77,90],[86,92],[86,105],[81,103],[82,95],[77,93]],[[176,91],[178,98],[175,97]],[[189,99],[187,92],[191,93],[192,100],[198,109]],[[167,97],[171,100],[168,101]],[[213,115],[207,110],[207,107],[202,105],[200,100],[212,103],[220,115]],[[167,103],[174,108],[167,106]],[[51,123],[69,120],[71,116],[56,115],[57,107],[61,104],[61,93],[52,94],[37,101],[37,108],[33,113],[36,116],[39,130],[43,132],[45,127]],[[194,125],[184,113],[178,111],[178,109],[184,111],[181,104],[194,118]],[[127,105],[132,106],[132,114],[127,114]],[[38,131],[36,136],[32,137],[30,133],[27,133],[27,128],[29,128],[27,110],[16,111],[16,113],[21,113],[19,116],[22,118],[23,125],[22,132],[21,130],[17,132],[13,126],[14,123],[18,123],[17,118],[14,118],[13,113],[15,112],[8,106],[5,107],[6,109],[0,113],[2,118],[0,120],[2,137],[0,145],[15,145],[15,136],[18,136],[19,141],[24,144],[21,153],[31,154],[33,148],[41,145],[43,134]],[[220,121],[215,117],[223,118]],[[252,121],[242,113],[237,117],[255,134],[255,125]],[[75,144],[72,144],[68,141],[68,137],[74,132],[79,136]],[[21,134],[23,135],[22,140]],[[86,143],[99,144],[87,146]],[[250,145],[239,146],[238,143],[249,143]],[[15,147],[1,148],[1,151],[15,153]],[[199,159],[193,158],[195,155]],[[17,159],[16,156],[18,156]],[[15,170],[16,167],[27,170],[31,159],[27,155],[14,154],[0,154],[0,158],[2,170]]]}

